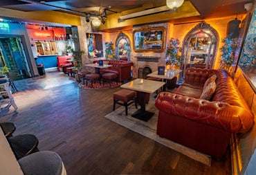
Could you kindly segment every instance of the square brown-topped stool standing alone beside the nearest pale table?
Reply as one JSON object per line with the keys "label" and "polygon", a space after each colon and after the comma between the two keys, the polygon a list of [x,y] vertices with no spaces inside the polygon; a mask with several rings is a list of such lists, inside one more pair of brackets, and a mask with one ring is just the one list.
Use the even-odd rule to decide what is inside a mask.
{"label": "square brown-topped stool standing alone beside the nearest pale table", "polygon": [[[128,106],[135,102],[136,99],[136,91],[131,91],[128,89],[122,89],[113,93],[113,111],[116,109],[116,104],[120,104],[125,107],[125,115],[128,115]],[[118,102],[121,101],[121,102]],[[135,107],[137,107],[137,103],[135,102]]]}

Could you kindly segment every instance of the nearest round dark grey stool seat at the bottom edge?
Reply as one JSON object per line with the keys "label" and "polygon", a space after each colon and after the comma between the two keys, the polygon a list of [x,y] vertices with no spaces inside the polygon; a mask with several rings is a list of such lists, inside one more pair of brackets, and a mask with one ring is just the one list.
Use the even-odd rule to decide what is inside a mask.
{"label": "nearest round dark grey stool seat at the bottom edge", "polygon": [[54,151],[39,151],[18,160],[24,175],[66,175],[62,158]]}

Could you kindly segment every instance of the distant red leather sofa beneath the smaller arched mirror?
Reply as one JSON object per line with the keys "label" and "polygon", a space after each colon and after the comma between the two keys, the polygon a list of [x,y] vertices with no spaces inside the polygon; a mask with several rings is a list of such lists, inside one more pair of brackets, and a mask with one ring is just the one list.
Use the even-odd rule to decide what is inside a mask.
{"label": "distant red leather sofa beneath the smaller arched mirror", "polygon": [[[98,62],[98,60],[95,60],[93,63],[95,62]],[[131,79],[131,66],[134,65],[133,62],[109,59],[104,59],[103,62],[104,64],[112,66],[108,68],[100,68],[100,75],[104,73],[116,73],[118,75],[119,82]]]}

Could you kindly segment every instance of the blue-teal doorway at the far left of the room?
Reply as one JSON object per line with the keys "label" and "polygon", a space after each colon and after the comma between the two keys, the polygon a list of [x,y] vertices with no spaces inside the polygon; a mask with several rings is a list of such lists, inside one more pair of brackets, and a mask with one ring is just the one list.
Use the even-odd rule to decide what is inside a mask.
{"label": "blue-teal doorway at the far left of the room", "polygon": [[12,80],[30,77],[21,37],[0,37],[0,68],[7,66]]}

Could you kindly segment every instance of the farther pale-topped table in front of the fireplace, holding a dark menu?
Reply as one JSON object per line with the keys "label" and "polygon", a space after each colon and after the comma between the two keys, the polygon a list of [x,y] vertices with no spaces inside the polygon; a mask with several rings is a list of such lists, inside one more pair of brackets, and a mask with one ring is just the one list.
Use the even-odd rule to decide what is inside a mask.
{"label": "farther pale-topped table in front of the fireplace, holding a dark menu", "polygon": [[[147,74],[148,77],[157,77],[157,78],[161,78],[166,84],[167,84],[167,80],[172,80],[174,77],[176,77],[176,75],[178,75],[179,73],[181,73],[182,70],[169,70],[165,72],[165,75],[158,75],[158,71],[154,71],[153,73],[149,73]],[[165,85],[163,86],[163,91],[165,91],[166,87]]]}

